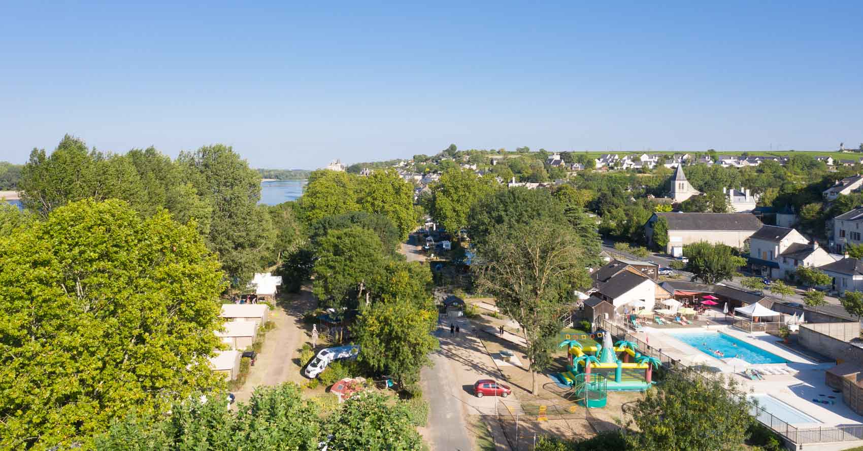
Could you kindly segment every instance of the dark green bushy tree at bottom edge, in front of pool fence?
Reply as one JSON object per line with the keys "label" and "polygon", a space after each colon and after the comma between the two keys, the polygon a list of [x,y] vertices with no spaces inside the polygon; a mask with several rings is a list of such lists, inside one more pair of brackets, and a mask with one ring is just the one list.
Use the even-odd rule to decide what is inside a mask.
{"label": "dark green bushy tree at bottom edge, in front of pool fence", "polygon": [[633,449],[732,451],[745,449],[753,422],[749,404],[734,379],[706,379],[670,372],[657,390],[635,402],[627,434]]}

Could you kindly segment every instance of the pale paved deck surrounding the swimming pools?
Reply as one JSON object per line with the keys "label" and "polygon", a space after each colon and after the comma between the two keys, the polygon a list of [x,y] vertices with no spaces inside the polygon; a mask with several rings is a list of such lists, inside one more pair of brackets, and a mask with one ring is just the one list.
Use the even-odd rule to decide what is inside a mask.
{"label": "pale paved deck surrounding the swimming pools", "polygon": [[[675,339],[669,333],[685,333],[685,332],[706,332],[706,331],[721,331],[737,338],[740,341],[746,341],[755,347],[761,348],[772,354],[788,360],[788,363],[780,364],[755,364],[756,368],[765,366],[787,366],[793,370],[797,370],[795,374],[765,374],[764,380],[752,380],[744,377],[740,373],[746,369],[741,361],[737,365],[728,364],[708,354],[702,353],[696,348]],[[740,382],[744,391],[753,393],[764,393],[778,398],[785,404],[789,404],[797,410],[805,412],[810,417],[815,417],[823,424],[795,424],[800,428],[818,427],[818,426],[838,426],[848,424],[861,424],[863,417],[848,409],[845,403],[842,402],[841,393],[834,393],[833,389],[824,383],[824,373],[829,368],[835,366],[835,362],[818,363],[814,360],[795,354],[787,348],[782,348],[776,344],[778,338],[764,332],[744,332],[739,329],[733,329],[728,326],[707,326],[707,327],[692,327],[692,328],[676,328],[676,329],[655,329],[647,327],[643,332],[637,334],[639,339],[646,341],[653,348],[661,348],[662,352],[671,356],[672,359],[681,360],[687,365],[703,365],[713,366],[721,370],[726,375],[732,375],[735,380]],[[819,396],[824,395],[824,396]],[[835,396],[833,399],[835,404],[816,404],[812,402],[813,398],[828,399],[828,396]]]}

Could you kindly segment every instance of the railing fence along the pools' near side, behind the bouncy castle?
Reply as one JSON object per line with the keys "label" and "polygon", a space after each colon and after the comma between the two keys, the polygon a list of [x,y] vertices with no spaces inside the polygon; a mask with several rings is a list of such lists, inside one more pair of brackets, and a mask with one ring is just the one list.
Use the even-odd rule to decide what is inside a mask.
{"label": "railing fence along the pools' near side, behind the bouncy castle", "polygon": [[[672,358],[670,355],[663,353],[657,348],[653,348],[645,341],[640,340],[634,335],[635,330],[630,329],[627,325],[619,325],[611,323],[607,319],[602,319],[600,328],[605,329],[611,335],[617,337],[618,340],[633,341],[639,345],[641,354],[650,355],[662,362],[666,369],[684,370],[689,368],[680,360]],[[721,373],[703,373],[698,371],[684,372],[683,374],[690,375],[691,378],[703,379],[705,383],[722,378]],[[733,393],[729,393],[732,396]],[[759,407],[759,415],[754,416],[759,423],[771,429],[773,432],[782,436],[786,444],[793,451],[802,451],[803,449],[812,450],[827,450],[829,449],[845,449],[854,446],[848,442],[863,442],[863,424],[851,424],[842,426],[829,426],[817,428],[797,428],[789,423],[785,423],[778,417],[774,417],[770,412],[762,407]],[[838,448],[827,447],[825,443],[840,443]]]}

